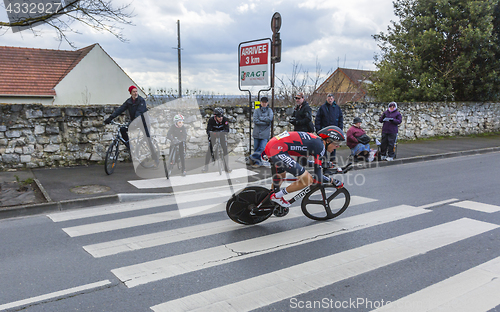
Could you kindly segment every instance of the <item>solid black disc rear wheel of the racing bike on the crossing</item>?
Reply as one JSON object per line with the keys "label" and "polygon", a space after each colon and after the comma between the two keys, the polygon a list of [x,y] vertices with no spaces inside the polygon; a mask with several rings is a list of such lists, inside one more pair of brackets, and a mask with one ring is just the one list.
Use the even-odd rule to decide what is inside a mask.
{"label": "solid black disc rear wheel of the racing bike on the crossing", "polygon": [[226,212],[231,220],[244,225],[260,223],[269,218],[274,211],[274,205],[269,202],[260,209],[254,209],[269,195],[269,190],[261,186],[245,187],[234,194],[227,202]]}

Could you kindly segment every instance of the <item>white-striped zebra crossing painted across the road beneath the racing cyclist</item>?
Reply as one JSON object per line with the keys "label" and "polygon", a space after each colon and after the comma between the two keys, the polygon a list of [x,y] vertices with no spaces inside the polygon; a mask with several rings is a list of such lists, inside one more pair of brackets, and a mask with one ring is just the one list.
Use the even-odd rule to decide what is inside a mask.
{"label": "white-striped zebra crossing painted across the road beneath the racing cyclist", "polygon": [[[232,191],[244,186],[236,185]],[[82,248],[100,261],[112,257],[127,257],[130,253],[137,255],[137,252],[148,249],[169,248],[176,243],[192,245],[197,239],[205,237],[220,239],[220,243],[213,243],[209,247],[203,246],[168,256],[160,255],[154,259],[143,259],[110,270],[128,289],[140,289],[152,283],[169,283],[171,279],[201,273],[211,268],[220,268],[220,271],[224,272],[224,268],[231,264],[260,261],[263,257],[272,257],[274,253],[280,251],[291,249],[305,251],[311,244],[335,242],[347,235],[361,235],[366,231],[381,228],[389,231],[398,222],[423,218],[431,220],[435,213],[433,208],[438,206],[483,214],[495,214],[500,211],[500,206],[454,198],[423,206],[401,204],[384,207],[377,198],[352,196],[348,212],[338,219],[314,222],[304,217],[300,209],[292,207],[290,214],[284,218],[272,217],[261,225],[246,227],[232,222],[225,216],[225,201],[230,195],[227,188],[201,192],[203,191],[197,190],[142,202],[59,212],[48,217],[54,223],[60,224],[62,231],[72,239],[93,235],[92,242],[82,244]],[[182,209],[192,209],[193,213],[180,212],[176,209],[178,202],[182,202]],[[377,209],[367,209],[375,204]],[[162,209],[165,211],[157,212]],[[123,216],[125,212],[137,215],[125,217]],[[203,221],[200,216],[215,216],[215,218]],[[101,221],[100,218],[104,217],[106,219]],[[182,227],[169,227],[182,219],[190,222]],[[108,239],[107,234],[110,232],[140,229],[159,223],[166,225],[163,230]],[[279,227],[279,230],[248,237],[235,235],[241,231],[252,232],[266,227]],[[449,248],[474,237],[490,235],[499,227],[498,224],[485,220],[458,217],[420,229],[412,229],[407,233],[388,235],[378,241],[368,240],[360,246],[340,248],[333,253],[300,260],[293,265],[277,267],[271,272],[263,271],[253,277],[230,281],[225,285],[215,285],[199,292],[185,293],[171,300],[152,303],[149,308],[155,312],[265,309],[273,304],[314,293],[335,283],[387,268],[401,261],[417,256],[425,257],[441,248]],[[227,242],[225,238],[228,236],[237,239]],[[392,301],[391,304],[365,310],[488,311],[500,305],[500,298],[497,296],[500,291],[499,277],[500,257],[492,258]],[[326,303],[321,302],[324,305]],[[292,301],[290,310],[300,310],[300,304],[295,308],[291,304]],[[335,306],[337,301],[329,304],[330,310],[338,308]],[[304,305],[303,308],[306,309],[307,306]]]}

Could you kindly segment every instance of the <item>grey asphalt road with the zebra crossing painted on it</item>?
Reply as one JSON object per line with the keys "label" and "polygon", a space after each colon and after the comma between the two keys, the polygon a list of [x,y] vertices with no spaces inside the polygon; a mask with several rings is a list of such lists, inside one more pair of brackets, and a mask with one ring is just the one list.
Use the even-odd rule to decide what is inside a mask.
{"label": "grey asphalt road with the zebra crossing painted on it", "polygon": [[235,224],[223,188],[0,220],[0,311],[500,311],[499,156],[353,171],[326,223]]}

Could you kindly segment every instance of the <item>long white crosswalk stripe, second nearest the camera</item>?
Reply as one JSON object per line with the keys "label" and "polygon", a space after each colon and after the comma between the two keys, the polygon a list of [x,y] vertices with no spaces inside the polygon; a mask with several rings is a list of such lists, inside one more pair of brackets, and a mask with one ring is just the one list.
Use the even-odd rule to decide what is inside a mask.
{"label": "long white crosswalk stripe, second nearest the camera", "polygon": [[461,219],[172,300],[151,309],[155,312],[249,311],[495,228],[498,226]]}

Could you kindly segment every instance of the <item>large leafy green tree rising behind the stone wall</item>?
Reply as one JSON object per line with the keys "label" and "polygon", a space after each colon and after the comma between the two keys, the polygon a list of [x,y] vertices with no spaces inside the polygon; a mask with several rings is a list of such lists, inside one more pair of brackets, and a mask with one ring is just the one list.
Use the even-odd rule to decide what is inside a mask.
{"label": "large leafy green tree rising behind the stone wall", "polygon": [[[370,92],[382,101],[499,98],[498,0],[395,0]],[[496,25],[500,25],[497,22]],[[497,29],[500,28],[496,26]]]}

